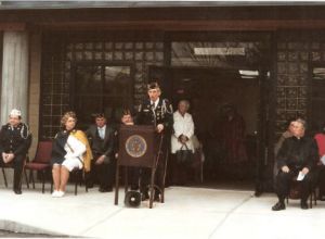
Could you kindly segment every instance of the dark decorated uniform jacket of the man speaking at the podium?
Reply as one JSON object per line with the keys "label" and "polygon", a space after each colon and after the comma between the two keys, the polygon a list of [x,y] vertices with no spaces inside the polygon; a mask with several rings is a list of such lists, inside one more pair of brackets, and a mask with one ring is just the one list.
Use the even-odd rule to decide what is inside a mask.
{"label": "dark decorated uniform jacket of the man speaking at the podium", "polygon": [[151,105],[151,100],[145,100],[139,108],[135,123],[139,125],[164,125],[164,131],[172,127],[172,106],[166,99],[160,99],[156,108]]}

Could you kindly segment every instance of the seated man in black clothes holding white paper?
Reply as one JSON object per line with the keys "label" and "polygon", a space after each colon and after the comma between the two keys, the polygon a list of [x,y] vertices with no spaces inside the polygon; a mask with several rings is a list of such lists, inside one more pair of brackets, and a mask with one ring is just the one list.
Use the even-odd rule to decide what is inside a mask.
{"label": "seated man in black clothes holding white paper", "polygon": [[318,159],[317,144],[313,138],[304,135],[306,122],[301,118],[292,123],[292,137],[285,139],[276,160],[280,173],[276,176],[276,194],[278,202],[273,211],[285,210],[284,200],[289,193],[290,181],[297,177],[301,185],[300,206],[308,209],[307,200],[312,184],[312,173]]}

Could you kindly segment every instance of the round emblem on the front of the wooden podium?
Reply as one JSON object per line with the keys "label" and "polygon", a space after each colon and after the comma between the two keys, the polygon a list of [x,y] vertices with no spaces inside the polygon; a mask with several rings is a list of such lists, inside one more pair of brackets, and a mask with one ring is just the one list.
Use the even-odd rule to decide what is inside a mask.
{"label": "round emblem on the front of the wooden podium", "polygon": [[146,148],[145,139],[139,135],[132,135],[126,141],[126,151],[132,158],[143,156]]}

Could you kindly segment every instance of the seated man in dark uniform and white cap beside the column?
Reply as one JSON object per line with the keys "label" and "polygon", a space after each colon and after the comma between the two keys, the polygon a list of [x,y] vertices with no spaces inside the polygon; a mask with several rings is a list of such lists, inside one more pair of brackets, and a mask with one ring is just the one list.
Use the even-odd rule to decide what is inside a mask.
{"label": "seated man in dark uniform and white cap beside the column", "polygon": [[0,165],[13,163],[13,190],[22,194],[22,173],[27,151],[31,143],[31,135],[26,124],[22,123],[21,111],[14,109],[10,112],[9,123],[0,131]]}

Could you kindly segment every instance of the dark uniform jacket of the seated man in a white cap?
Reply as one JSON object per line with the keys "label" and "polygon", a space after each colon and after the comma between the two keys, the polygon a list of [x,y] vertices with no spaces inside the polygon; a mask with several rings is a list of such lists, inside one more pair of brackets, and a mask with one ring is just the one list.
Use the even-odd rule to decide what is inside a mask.
{"label": "dark uniform jacket of the seated man in a white cap", "polygon": [[26,124],[16,127],[3,125],[0,131],[0,153],[26,154],[31,143],[31,135]]}

